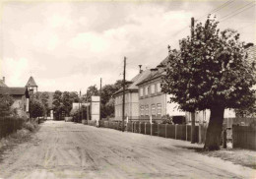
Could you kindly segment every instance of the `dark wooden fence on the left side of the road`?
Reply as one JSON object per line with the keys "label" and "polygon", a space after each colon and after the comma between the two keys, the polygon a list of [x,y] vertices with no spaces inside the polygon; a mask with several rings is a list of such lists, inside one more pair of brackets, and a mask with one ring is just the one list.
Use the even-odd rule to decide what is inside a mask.
{"label": "dark wooden fence on the left side of the road", "polygon": [[0,139],[22,129],[24,119],[21,118],[0,118]]}

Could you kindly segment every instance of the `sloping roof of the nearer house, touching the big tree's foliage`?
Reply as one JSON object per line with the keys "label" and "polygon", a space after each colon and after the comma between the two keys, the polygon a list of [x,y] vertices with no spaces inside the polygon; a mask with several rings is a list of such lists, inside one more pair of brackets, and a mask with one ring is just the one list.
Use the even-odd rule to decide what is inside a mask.
{"label": "sloping roof of the nearer house, touching the big tree's foliage", "polygon": [[152,80],[160,78],[165,73],[164,68],[162,68],[162,67],[164,67],[167,64],[167,61],[168,61],[168,56],[165,57],[160,62],[160,64],[157,66],[156,70],[151,71],[151,73],[143,81],[138,83],[137,86],[143,85],[147,82],[150,82]]}

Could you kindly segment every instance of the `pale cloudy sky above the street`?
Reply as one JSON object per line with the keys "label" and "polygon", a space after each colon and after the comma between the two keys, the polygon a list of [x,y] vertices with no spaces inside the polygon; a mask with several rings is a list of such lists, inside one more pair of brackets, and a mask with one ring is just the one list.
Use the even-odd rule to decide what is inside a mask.
{"label": "pale cloudy sky above the street", "polygon": [[[225,3],[225,4],[224,4]],[[39,91],[86,92],[156,67],[167,45],[190,33],[191,18],[205,22],[214,11],[220,29],[238,30],[256,44],[254,1],[1,1],[0,78]]]}

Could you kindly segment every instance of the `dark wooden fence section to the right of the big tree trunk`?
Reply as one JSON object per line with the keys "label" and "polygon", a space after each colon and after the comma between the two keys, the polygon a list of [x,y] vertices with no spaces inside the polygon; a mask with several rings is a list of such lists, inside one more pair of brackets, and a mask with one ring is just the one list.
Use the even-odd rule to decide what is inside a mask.
{"label": "dark wooden fence section to the right of the big tree trunk", "polygon": [[256,150],[256,128],[250,126],[232,126],[233,148]]}

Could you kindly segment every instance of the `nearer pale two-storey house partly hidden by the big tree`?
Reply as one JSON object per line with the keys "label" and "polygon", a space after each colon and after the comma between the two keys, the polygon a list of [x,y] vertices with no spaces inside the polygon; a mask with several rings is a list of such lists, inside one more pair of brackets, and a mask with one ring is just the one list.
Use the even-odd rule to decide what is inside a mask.
{"label": "nearer pale two-storey house partly hidden by the big tree", "polygon": [[161,77],[165,75],[164,66],[167,57],[157,68],[151,69],[150,74],[142,82],[138,83],[139,88],[139,114],[141,120],[161,119],[166,116],[185,116],[179,105],[168,102],[170,94],[163,93],[160,88]]}

